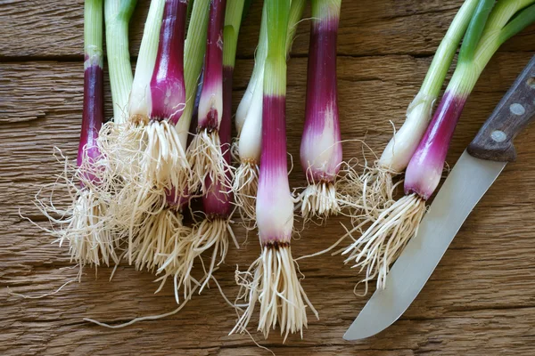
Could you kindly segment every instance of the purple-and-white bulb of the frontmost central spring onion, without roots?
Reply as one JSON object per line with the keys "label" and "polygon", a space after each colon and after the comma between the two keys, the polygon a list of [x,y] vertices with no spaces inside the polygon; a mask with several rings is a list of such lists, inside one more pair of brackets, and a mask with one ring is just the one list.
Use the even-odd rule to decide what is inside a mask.
{"label": "purple-and-white bulb of the frontmost central spring onion, without roots", "polygon": [[286,98],[264,95],[257,223],[262,245],[290,243],[293,199],[286,162]]}

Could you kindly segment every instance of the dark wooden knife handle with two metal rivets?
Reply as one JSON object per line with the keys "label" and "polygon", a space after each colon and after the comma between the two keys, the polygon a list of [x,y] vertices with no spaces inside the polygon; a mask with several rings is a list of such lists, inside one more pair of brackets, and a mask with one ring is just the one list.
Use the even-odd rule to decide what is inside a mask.
{"label": "dark wooden knife handle with two metal rivets", "polygon": [[510,162],[516,158],[513,140],[535,118],[535,56],[468,145],[481,159]]}

